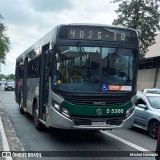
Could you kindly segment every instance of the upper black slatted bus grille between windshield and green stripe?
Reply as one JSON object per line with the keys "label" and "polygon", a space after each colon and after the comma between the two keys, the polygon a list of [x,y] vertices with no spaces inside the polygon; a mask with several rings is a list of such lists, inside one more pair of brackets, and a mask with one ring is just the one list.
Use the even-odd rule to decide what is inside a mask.
{"label": "upper black slatted bus grille between windshield and green stripe", "polygon": [[127,96],[70,96],[68,102],[77,105],[111,106],[129,102]]}

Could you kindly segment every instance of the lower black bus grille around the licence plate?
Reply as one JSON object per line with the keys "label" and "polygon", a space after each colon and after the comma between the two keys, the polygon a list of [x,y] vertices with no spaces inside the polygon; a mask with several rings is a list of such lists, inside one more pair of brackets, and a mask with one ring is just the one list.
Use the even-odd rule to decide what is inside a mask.
{"label": "lower black bus grille around the licence plate", "polygon": [[121,125],[124,117],[112,117],[105,119],[97,119],[97,118],[78,118],[73,117],[73,121],[76,126],[79,125],[91,125],[92,122],[106,122],[108,125]]}

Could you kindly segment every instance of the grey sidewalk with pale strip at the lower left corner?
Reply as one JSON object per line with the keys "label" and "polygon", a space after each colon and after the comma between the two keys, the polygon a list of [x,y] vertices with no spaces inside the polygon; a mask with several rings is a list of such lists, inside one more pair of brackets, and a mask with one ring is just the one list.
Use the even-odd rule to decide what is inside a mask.
{"label": "grey sidewalk with pale strip at the lower left corner", "polygon": [[[4,106],[0,101],[0,151],[24,151],[24,148],[10,122]],[[2,160],[16,160],[17,158],[3,157],[0,152],[0,159]]]}

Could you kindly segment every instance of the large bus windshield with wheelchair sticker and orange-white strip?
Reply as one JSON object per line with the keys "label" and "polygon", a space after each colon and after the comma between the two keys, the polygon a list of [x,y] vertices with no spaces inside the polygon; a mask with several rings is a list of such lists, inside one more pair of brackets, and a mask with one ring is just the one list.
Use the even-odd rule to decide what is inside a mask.
{"label": "large bus windshield with wheelchair sticker and orange-white strip", "polygon": [[71,92],[132,91],[138,50],[93,46],[57,46],[52,84]]}

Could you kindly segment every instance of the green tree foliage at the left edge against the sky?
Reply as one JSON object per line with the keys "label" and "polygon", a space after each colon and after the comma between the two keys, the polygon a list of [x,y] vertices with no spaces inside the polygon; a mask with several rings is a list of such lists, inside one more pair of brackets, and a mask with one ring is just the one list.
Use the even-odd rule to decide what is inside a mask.
{"label": "green tree foliage at the left edge against the sky", "polygon": [[5,63],[6,54],[9,52],[10,41],[5,31],[7,27],[1,22],[3,17],[0,15],[0,63]]}

